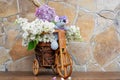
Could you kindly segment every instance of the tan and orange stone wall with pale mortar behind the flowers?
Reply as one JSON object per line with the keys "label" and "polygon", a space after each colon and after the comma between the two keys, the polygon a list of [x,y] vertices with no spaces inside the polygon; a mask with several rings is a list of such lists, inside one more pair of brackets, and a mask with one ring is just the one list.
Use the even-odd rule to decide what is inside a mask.
{"label": "tan and orange stone wall with pale mortar behind the flowers", "polygon": [[[120,0],[39,0],[79,26],[83,42],[67,49],[74,71],[120,71]],[[114,4],[113,4],[114,3]],[[0,0],[0,71],[31,71],[34,51],[21,46],[15,19],[35,19],[32,0]]]}

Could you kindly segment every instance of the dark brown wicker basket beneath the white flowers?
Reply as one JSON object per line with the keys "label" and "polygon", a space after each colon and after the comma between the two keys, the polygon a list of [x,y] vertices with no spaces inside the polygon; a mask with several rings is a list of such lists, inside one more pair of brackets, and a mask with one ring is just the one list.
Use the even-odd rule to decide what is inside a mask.
{"label": "dark brown wicker basket beneath the white flowers", "polygon": [[50,47],[50,43],[40,42],[35,48],[35,56],[40,66],[51,66],[55,62],[55,53]]}

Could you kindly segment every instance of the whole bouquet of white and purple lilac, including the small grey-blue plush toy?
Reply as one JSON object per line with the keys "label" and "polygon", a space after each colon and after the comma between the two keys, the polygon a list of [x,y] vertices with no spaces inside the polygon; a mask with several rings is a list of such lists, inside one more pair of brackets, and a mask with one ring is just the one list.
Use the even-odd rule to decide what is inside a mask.
{"label": "whole bouquet of white and purple lilac, including the small grey-blue plush toy", "polygon": [[42,5],[36,9],[36,19],[28,22],[26,18],[18,18],[16,22],[22,27],[22,45],[28,46],[32,50],[39,42],[51,43],[51,48],[58,48],[57,35],[53,34],[56,29],[66,31],[66,40],[82,40],[79,28],[76,26],[67,26],[66,16],[58,16],[55,10],[48,5]]}

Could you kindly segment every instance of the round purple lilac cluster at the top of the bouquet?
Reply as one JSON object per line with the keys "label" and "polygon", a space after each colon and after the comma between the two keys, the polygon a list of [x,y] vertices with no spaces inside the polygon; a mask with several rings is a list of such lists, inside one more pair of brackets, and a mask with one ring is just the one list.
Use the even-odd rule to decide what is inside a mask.
{"label": "round purple lilac cluster at the top of the bouquet", "polygon": [[35,16],[42,20],[53,21],[55,19],[55,10],[48,5],[42,5],[37,8]]}

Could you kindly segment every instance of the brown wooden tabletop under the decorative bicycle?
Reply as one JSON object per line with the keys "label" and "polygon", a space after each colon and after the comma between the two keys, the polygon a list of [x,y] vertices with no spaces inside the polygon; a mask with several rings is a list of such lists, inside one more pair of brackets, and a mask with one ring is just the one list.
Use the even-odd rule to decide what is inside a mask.
{"label": "brown wooden tabletop under the decorative bicycle", "polygon": [[[52,72],[42,72],[35,77],[32,72],[0,72],[0,80],[52,80]],[[73,72],[72,80],[120,80],[120,72]],[[61,80],[57,76],[57,80]]]}

